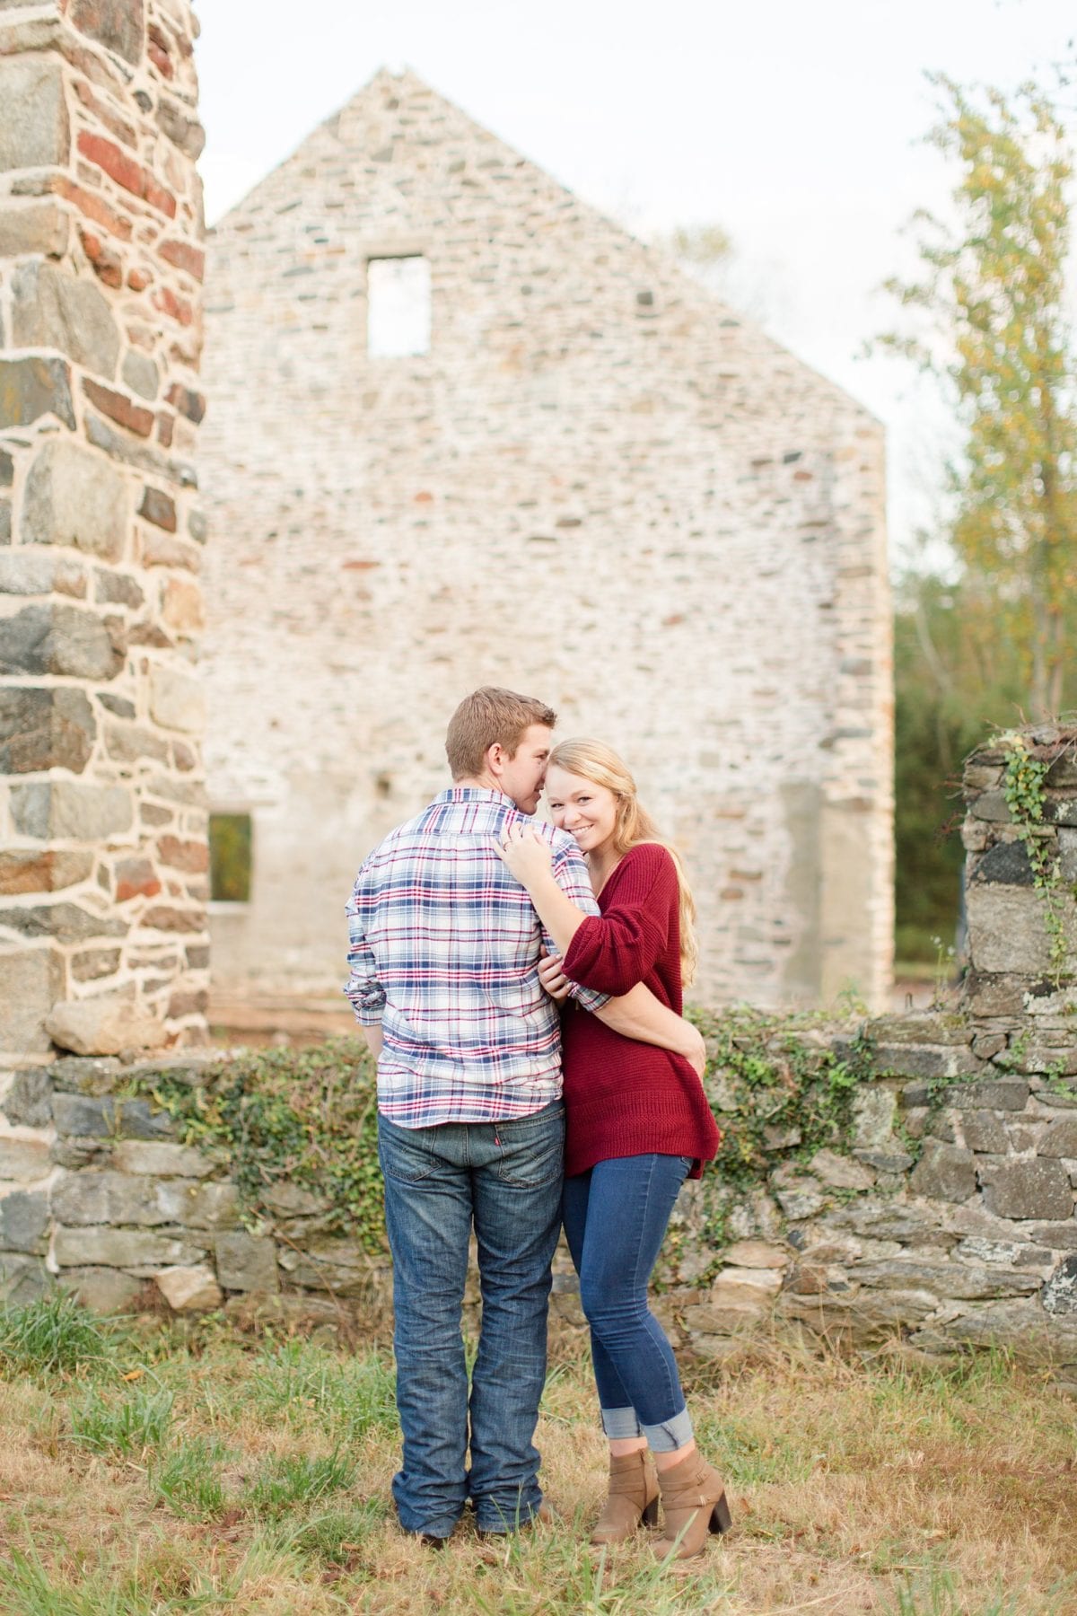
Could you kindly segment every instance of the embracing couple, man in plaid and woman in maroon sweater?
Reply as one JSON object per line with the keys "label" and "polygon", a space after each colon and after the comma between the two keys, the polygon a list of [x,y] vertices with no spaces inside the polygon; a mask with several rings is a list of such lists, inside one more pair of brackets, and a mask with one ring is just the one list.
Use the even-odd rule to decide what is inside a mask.
{"label": "embracing couple, man in plaid and woman in maroon sweater", "polygon": [[[660,1555],[728,1527],[647,1307],[673,1202],[719,1134],[681,1018],[693,900],[607,747],[552,745],[544,703],[486,687],[452,716],[452,785],[367,858],[347,995],[378,1062],[394,1272],[400,1526],[431,1547],[546,1519],[534,1448],[551,1260],[580,1273],[609,1496],[593,1542]],[[534,821],[546,787],[552,826]],[[460,1309],[475,1235],[471,1383]],[[470,1466],[468,1466],[470,1450]]]}

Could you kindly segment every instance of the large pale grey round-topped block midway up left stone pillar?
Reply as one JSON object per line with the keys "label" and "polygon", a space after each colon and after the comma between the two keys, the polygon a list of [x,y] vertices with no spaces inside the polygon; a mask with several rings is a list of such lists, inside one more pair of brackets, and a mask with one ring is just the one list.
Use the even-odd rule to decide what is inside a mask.
{"label": "large pale grey round-topped block midway up left stone pillar", "polygon": [[39,449],[23,503],[26,543],[73,545],[119,561],[128,519],[124,480],[102,454],[66,438]]}

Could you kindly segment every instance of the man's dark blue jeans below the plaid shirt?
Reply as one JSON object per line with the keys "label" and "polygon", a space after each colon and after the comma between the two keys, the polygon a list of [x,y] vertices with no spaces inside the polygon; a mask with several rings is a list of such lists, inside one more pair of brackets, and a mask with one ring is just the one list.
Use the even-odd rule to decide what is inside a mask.
{"label": "man's dark blue jeans below the plaid shirt", "polygon": [[[392,1496],[407,1532],[447,1537],[468,1496],[480,1530],[509,1532],[543,1501],[533,1437],[564,1139],[560,1100],[499,1123],[378,1118],[404,1430]],[[483,1325],[468,1398],[460,1309],[471,1227]]]}

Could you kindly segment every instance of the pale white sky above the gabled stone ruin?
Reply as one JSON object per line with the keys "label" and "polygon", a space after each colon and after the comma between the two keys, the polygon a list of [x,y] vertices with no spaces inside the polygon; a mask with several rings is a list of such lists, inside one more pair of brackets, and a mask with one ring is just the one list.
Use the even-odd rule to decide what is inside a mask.
{"label": "pale white sky above the gabled stone ruin", "polygon": [[381,66],[410,66],[638,234],[719,223],[743,305],[890,428],[891,553],[930,524],[938,406],[862,360],[945,210],[925,69],[1012,87],[1074,61],[1074,0],[197,0],[210,221]]}

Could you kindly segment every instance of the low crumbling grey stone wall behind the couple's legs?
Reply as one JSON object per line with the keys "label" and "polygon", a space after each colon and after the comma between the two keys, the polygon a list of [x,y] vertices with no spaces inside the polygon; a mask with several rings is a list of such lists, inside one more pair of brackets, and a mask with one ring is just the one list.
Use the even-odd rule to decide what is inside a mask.
{"label": "low crumbling grey stone wall behind the couple's legs", "polygon": [[[1043,834],[1066,858],[1075,747],[1077,732],[1033,737],[1053,763]],[[720,1175],[685,1186],[657,1301],[683,1349],[722,1359],[746,1338],[793,1333],[938,1361],[999,1345],[1051,1364],[1077,1391],[1077,989],[1043,976],[1041,898],[999,810],[1003,766],[1001,751],[985,750],[966,776],[979,895],[962,999],[809,1029],[820,1054],[869,1039],[844,1147],[801,1160],[794,1136],[775,1138],[773,1168],[756,1193],[725,1202],[723,1225]],[[191,1081],[199,1063],[192,1054],[181,1067]],[[97,1307],[140,1306],[149,1291],[181,1312],[224,1306],[360,1330],[384,1320],[388,1264],[325,1233],[325,1199],[281,1181],[273,1217],[244,1230],[226,1160],[187,1149],[145,1100],[115,1097],[131,1070],[65,1058],[0,1084],[0,1293],[26,1299],[61,1283]],[[735,1136],[720,1065],[709,1083]],[[575,1290],[562,1251],[562,1335],[583,1328]]]}

